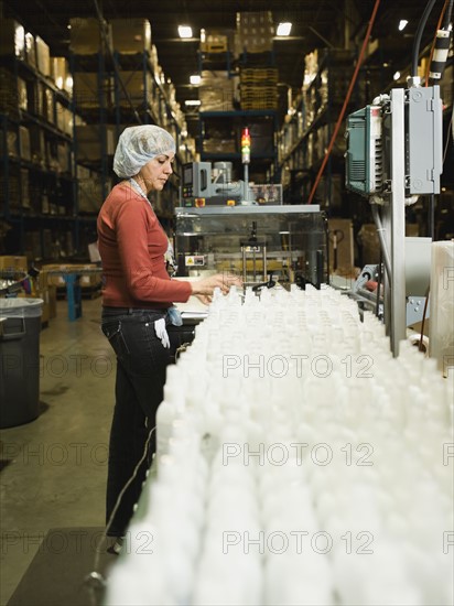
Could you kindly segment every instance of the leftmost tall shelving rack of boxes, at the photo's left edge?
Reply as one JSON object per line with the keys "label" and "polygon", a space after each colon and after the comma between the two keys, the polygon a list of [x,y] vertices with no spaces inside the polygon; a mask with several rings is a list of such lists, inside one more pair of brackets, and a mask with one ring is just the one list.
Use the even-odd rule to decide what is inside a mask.
{"label": "leftmost tall shelving rack of boxes, at the photo's left edge", "polygon": [[6,248],[34,259],[67,255],[77,237],[69,96],[25,58],[1,56],[0,69],[10,83],[0,110]]}

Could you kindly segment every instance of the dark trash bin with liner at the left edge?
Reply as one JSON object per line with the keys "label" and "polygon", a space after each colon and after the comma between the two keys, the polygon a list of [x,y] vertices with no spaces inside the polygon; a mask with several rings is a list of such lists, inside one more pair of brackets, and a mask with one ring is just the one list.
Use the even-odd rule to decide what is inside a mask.
{"label": "dark trash bin with liner at the left edge", "polygon": [[42,299],[0,299],[0,428],[36,419]]}

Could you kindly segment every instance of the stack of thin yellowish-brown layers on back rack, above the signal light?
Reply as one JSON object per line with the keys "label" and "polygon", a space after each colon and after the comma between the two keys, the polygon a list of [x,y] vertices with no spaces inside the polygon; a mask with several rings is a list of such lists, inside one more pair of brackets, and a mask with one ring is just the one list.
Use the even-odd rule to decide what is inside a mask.
{"label": "stack of thin yellowish-brown layers on back rack, above the signal light", "polygon": [[241,109],[277,109],[277,85],[275,67],[242,68],[240,72]]}

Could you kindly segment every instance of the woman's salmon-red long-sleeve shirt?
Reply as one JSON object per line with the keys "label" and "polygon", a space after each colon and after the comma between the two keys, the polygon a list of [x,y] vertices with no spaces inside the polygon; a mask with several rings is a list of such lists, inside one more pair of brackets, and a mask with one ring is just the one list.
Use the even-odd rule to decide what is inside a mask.
{"label": "woman's salmon-red long-sleeve shirt", "polygon": [[188,300],[191,284],[171,280],[164,261],[167,237],[139,193],[116,185],[99,210],[97,230],[104,305],[164,309]]}

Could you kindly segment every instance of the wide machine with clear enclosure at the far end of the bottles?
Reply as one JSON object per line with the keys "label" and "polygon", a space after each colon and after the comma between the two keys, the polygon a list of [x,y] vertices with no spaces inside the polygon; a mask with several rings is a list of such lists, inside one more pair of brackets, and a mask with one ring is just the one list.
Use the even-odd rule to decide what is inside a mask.
{"label": "wide machine with clear enclosure at the far end of the bottles", "polygon": [[317,205],[175,208],[179,275],[234,271],[246,285],[327,281],[326,218]]}

